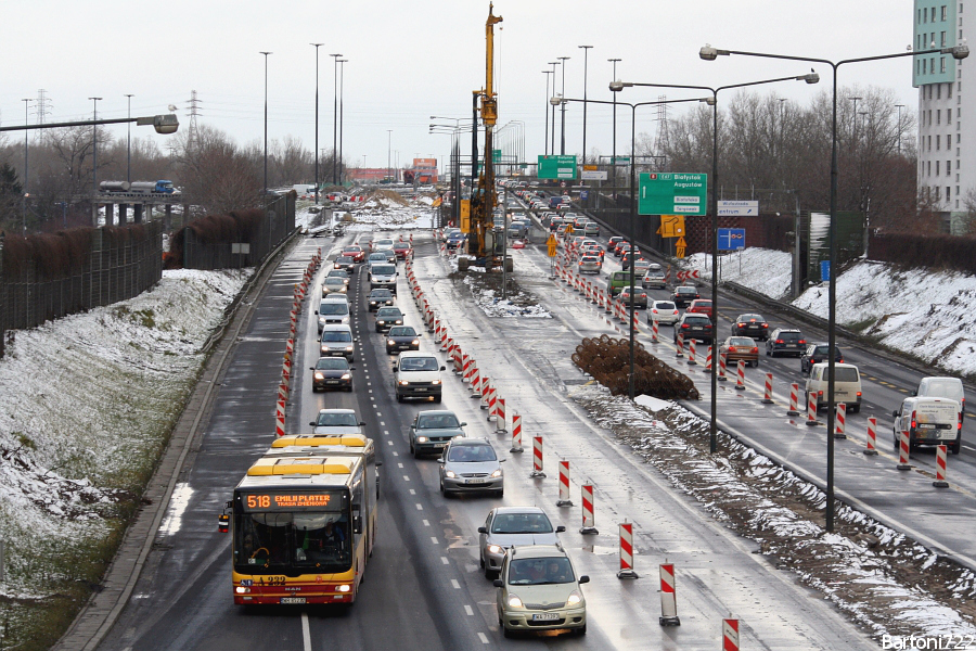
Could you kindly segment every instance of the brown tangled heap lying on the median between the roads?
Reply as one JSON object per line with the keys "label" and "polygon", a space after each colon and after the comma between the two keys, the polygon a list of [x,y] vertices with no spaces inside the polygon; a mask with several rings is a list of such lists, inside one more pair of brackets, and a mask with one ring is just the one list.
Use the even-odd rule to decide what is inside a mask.
{"label": "brown tangled heap lying on the median between the roads", "polygon": [[[611,390],[615,396],[630,392],[630,341],[602,335],[585,339],[573,354],[573,363]],[[691,378],[657,359],[634,342],[634,395],[662,400],[697,400],[698,390]]]}

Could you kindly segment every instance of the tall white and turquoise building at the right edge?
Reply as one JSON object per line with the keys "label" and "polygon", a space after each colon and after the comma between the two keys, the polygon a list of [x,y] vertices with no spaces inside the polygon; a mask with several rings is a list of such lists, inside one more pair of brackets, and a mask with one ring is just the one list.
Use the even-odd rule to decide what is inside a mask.
{"label": "tall white and turquoise building at the right edge", "polygon": [[[976,1],[914,0],[914,49],[965,42],[967,3],[976,21]],[[976,151],[976,102],[963,102],[963,71],[976,64],[964,64],[951,54],[914,56],[913,62],[912,86],[919,89],[919,192],[941,214],[946,230],[959,232],[966,194],[976,192],[972,155]]]}

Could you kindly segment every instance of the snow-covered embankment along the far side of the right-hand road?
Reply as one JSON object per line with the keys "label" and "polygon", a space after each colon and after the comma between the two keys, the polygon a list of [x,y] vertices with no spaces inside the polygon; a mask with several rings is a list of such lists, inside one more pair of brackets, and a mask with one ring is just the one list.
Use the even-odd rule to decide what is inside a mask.
{"label": "snow-covered embankment along the far side of the right-hand road", "polygon": [[[705,269],[704,254],[688,259]],[[791,256],[746,248],[725,256],[722,281],[734,281],[772,298],[788,301]],[[827,288],[814,285],[796,307],[827,318]],[[953,375],[976,374],[976,278],[956,272],[899,270],[862,260],[837,277],[837,323],[876,337],[885,346],[914,355]]]}

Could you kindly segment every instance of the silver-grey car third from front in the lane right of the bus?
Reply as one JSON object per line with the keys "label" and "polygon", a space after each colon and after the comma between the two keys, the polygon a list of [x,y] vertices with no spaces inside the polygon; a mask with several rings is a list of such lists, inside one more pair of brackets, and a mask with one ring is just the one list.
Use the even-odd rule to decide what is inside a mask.
{"label": "silver-grey car third from front in the lane right of the bus", "polygon": [[455,438],[448,444],[440,463],[440,493],[505,494],[505,475],[487,438]]}

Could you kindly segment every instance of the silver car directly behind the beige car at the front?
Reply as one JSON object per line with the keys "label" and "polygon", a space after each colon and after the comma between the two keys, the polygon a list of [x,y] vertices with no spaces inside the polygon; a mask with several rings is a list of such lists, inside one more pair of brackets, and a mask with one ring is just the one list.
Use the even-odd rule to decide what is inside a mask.
{"label": "silver car directly behind the beige car at the front", "polygon": [[539,507],[498,507],[488,511],[485,526],[478,527],[480,564],[485,576],[495,578],[513,545],[556,545],[565,526],[553,528]]}

